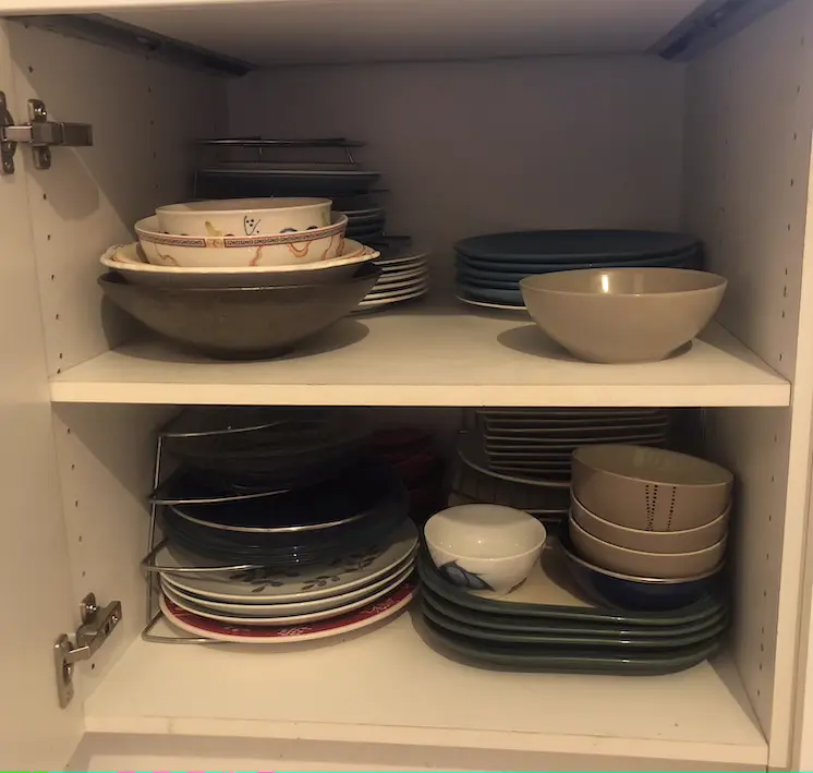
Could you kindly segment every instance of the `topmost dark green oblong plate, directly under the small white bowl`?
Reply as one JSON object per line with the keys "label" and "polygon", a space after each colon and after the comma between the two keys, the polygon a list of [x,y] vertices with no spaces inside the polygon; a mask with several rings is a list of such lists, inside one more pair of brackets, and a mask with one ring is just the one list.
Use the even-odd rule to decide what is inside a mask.
{"label": "topmost dark green oblong plate, directly under the small white bowl", "polygon": [[[548,578],[553,578],[555,582],[551,580],[551,584],[563,585],[570,583],[572,585],[567,568],[562,566],[563,554],[555,540],[549,540],[549,542],[553,544],[550,546],[546,545],[542,554],[542,569],[537,566],[534,571],[542,571]],[[727,608],[725,596],[721,593],[708,591],[705,591],[699,601],[689,606],[679,609],[655,612],[631,612],[597,607],[595,605],[585,606],[584,602],[581,602],[582,605],[578,605],[577,596],[579,592],[572,592],[569,588],[569,592],[563,594],[563,597],[570,597],[572,604],[523,603],[521,601],[506,601],[503,599],[486,599],[474,595],[462,588],[457,588],[447,582],[438,573],[425,547],[421,549],[417,568],[421,581],[426,588],[458,607],[494,615],[525,618],[525,620],[529,618],[581,620],[592,623],[594,626],[595,624],[604,624],[610,629],[617,629],[619,626],[644,626],[652,628],[656,626],[685,626],[691,623],[707,621],[709,617]],[[531,580],[526,584],[530,582]],[[519,591],[514,591],[512,596],[519,599],[522,591],[522,588]]]}

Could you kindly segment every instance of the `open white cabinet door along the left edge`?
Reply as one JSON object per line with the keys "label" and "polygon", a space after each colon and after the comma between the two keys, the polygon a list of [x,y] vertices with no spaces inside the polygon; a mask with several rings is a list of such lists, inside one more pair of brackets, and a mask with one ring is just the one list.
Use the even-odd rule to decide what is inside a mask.
{"label": "open white cabinet door along the left edge", "polygon": [[[0,90],[24,121],[7,24],[0,22]],[[3,770],[53,771],[82,735],[78,697],[59,708],[52,654],[57,636],[75,629],[78,599],[51,428],[27,148],[15,161],[16,173],[0,174],[0,762]]]}

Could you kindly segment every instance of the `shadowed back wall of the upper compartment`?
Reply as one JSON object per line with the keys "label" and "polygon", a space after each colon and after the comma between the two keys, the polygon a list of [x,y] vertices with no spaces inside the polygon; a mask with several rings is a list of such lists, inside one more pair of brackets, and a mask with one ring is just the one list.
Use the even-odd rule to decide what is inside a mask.
{"label": "shadowed back wall of the upper compartment", "polygon": [[654,57],[282,68],[229,83],[234,136],[348,136],[390,233],[435,251],[519,228],[675,228],[683,67]]}

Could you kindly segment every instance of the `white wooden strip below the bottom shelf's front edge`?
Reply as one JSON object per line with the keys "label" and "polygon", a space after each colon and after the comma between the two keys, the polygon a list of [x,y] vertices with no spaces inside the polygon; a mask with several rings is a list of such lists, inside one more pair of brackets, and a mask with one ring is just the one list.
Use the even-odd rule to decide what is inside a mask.
{"label": "white wooden strip below the bottom shelf's front edge", "polygon": [[376,744],[121,736],[88,734],[71,763],[76,771],[764,771],[765,765],[595,757],[586,753],[387,747]]}

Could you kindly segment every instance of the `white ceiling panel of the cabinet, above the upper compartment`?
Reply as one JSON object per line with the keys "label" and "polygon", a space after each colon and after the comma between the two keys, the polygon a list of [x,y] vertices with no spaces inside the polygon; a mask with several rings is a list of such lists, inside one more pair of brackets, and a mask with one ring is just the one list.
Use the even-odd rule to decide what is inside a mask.
{"label": "white ceiling panel of the cabinet, above the upper compartment", "polygon": [[2,0],[0,12],[110,12],[131,24],[269,65],[641,52],[701,1]]}

